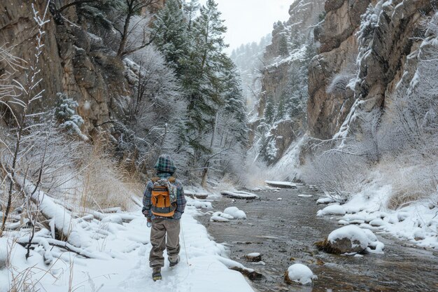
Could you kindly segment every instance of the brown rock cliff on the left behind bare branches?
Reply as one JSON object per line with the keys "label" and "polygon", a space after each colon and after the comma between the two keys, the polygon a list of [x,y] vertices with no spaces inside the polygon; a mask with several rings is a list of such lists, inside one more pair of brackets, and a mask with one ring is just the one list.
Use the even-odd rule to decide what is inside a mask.
{"label": "brown rock cliff on the left behind bare branches", "polygon": [[[40,15],[46,3],[36,1]],[[163,4],[164,1],[153,9]],[[27,61],[22,64],[24,67],[31,66],[37,33],[31,4],[29,1],[3,1],[3,6],[0,45],[15,46],[11,53]],[[78,102],[78,113],[84,118],[84,130],[88,132],[111,118],[122,118],[131,94],[123,76],[122,61],[104,46],[99,36],[91,33],[92,20],[78,20],[76,6],[63,11],[64,24],[55,21],[50,11],[47,13],[50,22],[45,25],[39,75],[42,78],[39,87],[45,90],[41,106],[54,106],[56,93],[65,93]],[[20,76],[22,72],[16,75]]]}

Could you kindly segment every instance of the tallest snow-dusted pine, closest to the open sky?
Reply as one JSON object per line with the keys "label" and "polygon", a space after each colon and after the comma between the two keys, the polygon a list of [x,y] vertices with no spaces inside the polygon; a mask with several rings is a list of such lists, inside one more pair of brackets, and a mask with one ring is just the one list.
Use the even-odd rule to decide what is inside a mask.
{"label": "tallest snow-dusted pine, closest to the open sky", "polygon": [[227,28],[213,0],[208,0],[190,29],[190,54],[185,60],[183,88],[188,99],[187,130],[195,148],[206,151],[201,139],[213,127],[218,106],[223,104],[222,76],[229,60],[223,34]]}

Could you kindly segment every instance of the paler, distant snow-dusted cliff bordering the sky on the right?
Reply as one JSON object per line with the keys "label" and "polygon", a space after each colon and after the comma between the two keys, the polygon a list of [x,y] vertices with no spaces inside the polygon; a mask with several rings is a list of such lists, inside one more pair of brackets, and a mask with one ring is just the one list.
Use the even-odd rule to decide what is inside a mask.
{"label": "paler, distant snow-dusted cliff bordering the sky on the right", "polygon": [[[318,24],[323,8],[323,0],[295,1],[289,9],[289,20],[274,25],[271,44],[264,53],[262,90],[250,134],[251,140],[264,136],[260,151],[268,162],[281,158],[292,141],[305,131],[306,68],[316,54],[313,27]],[[267,109],[268,104],[274,109]],[[285,113],[281,114],[282,111]],[[260,133],[260,128],[265,132]]]}

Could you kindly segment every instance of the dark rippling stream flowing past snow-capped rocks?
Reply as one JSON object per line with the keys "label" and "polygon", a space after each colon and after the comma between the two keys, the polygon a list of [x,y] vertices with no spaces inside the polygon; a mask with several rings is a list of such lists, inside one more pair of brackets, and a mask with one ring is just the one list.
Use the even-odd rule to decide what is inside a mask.
{"label": "dark rippling stream flowing past snow-capped rocks", "polygon": [[[223,197],[213,202],[214,211],[235,206],[246,212],[246,220],[229,223],[199,216],[209,234],[229,247],[229,257],[263,274],[252,281],[256,291],[438,291],[438,252],[411,246],[409,242],[379,234],[385,253],[337,256],[319,251],[314,242],[341,227],[337,220],[316,217],[319,192],[307,186],[297,189],[253,192],[260,200]],[[313,197],[298,197],[299,194]],[[282,200],[277,200],[281,197]],[[261,253],[261,263],[243,256]],[[313,286],[288,285],[284,273],[293,263],[304,263],[318,276]],[[236,291],[239,292],[239,291]]]}

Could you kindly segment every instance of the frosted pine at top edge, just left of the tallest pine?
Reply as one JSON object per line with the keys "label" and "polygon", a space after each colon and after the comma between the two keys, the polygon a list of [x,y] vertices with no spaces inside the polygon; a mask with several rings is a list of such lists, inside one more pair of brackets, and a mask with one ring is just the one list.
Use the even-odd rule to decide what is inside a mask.
{"label": "frosted pine at top edge, just left of the tallest pine", "polygon": [[157,14],[153,29],[154,43],[163,53],[169,67],[181,76],[183,64],[180,60],[188,55],[187,19],[178,0],[168,0]]}

